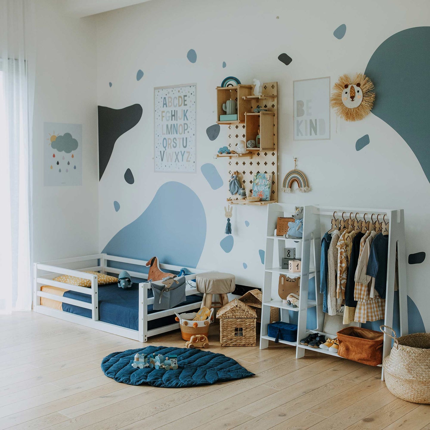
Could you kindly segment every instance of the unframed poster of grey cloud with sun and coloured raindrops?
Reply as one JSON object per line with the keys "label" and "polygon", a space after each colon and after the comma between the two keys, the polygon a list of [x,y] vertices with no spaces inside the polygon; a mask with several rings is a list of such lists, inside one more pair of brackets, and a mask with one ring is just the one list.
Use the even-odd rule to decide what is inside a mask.
{"label": "unframed poster of grey cloud with sun and coloured raindrops", "polygon": [[43,123],[43,184],[82,185],[82,124]]}

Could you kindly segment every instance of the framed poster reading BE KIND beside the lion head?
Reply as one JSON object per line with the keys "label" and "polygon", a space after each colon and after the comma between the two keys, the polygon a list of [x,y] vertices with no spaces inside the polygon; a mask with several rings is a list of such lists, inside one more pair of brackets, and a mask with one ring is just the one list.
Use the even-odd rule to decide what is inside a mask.
{"label": "framed poster reading BE KIND beside the lion head", "polygon": [[293,82],[294,140],[330,139],[330,77]]}

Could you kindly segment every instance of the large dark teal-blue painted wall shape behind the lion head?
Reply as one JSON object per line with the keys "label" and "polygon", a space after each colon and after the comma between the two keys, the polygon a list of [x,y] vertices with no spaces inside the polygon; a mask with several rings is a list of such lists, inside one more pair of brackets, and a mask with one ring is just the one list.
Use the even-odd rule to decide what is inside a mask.
{"label": "large dark teal-blue painted wall shape behind the lion head", "polygon": [[381,43],[365,74],[375,84],[372,113],[402,136],[430,181],[429,70],[430,27],[415,27]]}

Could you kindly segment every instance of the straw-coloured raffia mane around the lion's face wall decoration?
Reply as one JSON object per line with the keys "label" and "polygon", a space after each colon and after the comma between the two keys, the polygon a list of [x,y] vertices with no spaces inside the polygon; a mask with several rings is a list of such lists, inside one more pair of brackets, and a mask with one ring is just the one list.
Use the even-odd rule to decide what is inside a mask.
{"label": "straw-coloured raffia mane around the lion's face wall decoration", "polygon": [[[342,101],[342,92],[345,90],[345,85],[356,85],[362,90],[363,101],[358,107],[346,107]],[[351,80],[348,74],[339,77],[338,82],[333,86],[332,96],[330,97],[330,105],[336,109],[336,114],[342,117],[345,121],[359,121],[369,115],[372,110],[373,102],[375,101],[375,93],[372,91],[375,88],[372,81],[362,73],[357,73]]]}

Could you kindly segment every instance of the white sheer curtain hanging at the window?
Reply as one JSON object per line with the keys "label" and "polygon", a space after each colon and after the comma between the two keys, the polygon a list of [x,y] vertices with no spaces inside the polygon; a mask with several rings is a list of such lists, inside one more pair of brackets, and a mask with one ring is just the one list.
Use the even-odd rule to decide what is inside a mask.
{"label": "white sheer curtain hanging at the window", "polygon": [[34,5],[0,0],[0,313],[31,309]]}

